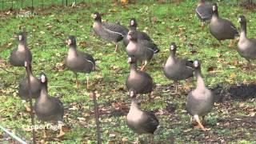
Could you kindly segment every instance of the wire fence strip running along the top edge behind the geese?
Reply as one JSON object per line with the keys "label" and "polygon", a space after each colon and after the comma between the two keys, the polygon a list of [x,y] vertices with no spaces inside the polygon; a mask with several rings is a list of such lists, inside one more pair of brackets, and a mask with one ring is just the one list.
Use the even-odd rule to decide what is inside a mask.
{"label": "wire fence strip running along the top edge behind the geese", "polygon": [[[115,0],[116,2],[120,0]],[[158,2],[159,0],[133,0],[134,2]],[[166,2],[176,2],[178,0],[166,0]],[[193,1],[193,0],[191,0]],[[194,0],[198,1],[198,0]],[[49,6],[72,6],[81,2],[114,2],[114,0],[0,0],[0,10],[20,10],[29,8],[46,8]],[[253,3],[256,0],[210,0],[210,2],[228,2],[230,4],[238,4],[239,2]]]}

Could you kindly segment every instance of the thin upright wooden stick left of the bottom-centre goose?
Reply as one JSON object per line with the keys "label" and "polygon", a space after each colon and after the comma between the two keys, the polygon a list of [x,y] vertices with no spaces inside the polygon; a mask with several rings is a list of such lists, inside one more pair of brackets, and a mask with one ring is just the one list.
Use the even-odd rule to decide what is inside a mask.
{"label": "thin upright wooden stick left of the bottom-centre goose", "polygon": [[99,122],[99,114],[98,114],[98,103],[97,103],[97,98],[95,91],[93,92],[93,97],[94,97],[94,113],[95,113],[95,119],[96,119],[96,126],[97,126],[97,140],[98,144],[102,144],[102,137],[101,137],[101,130],[100,130],[100,122]]}

